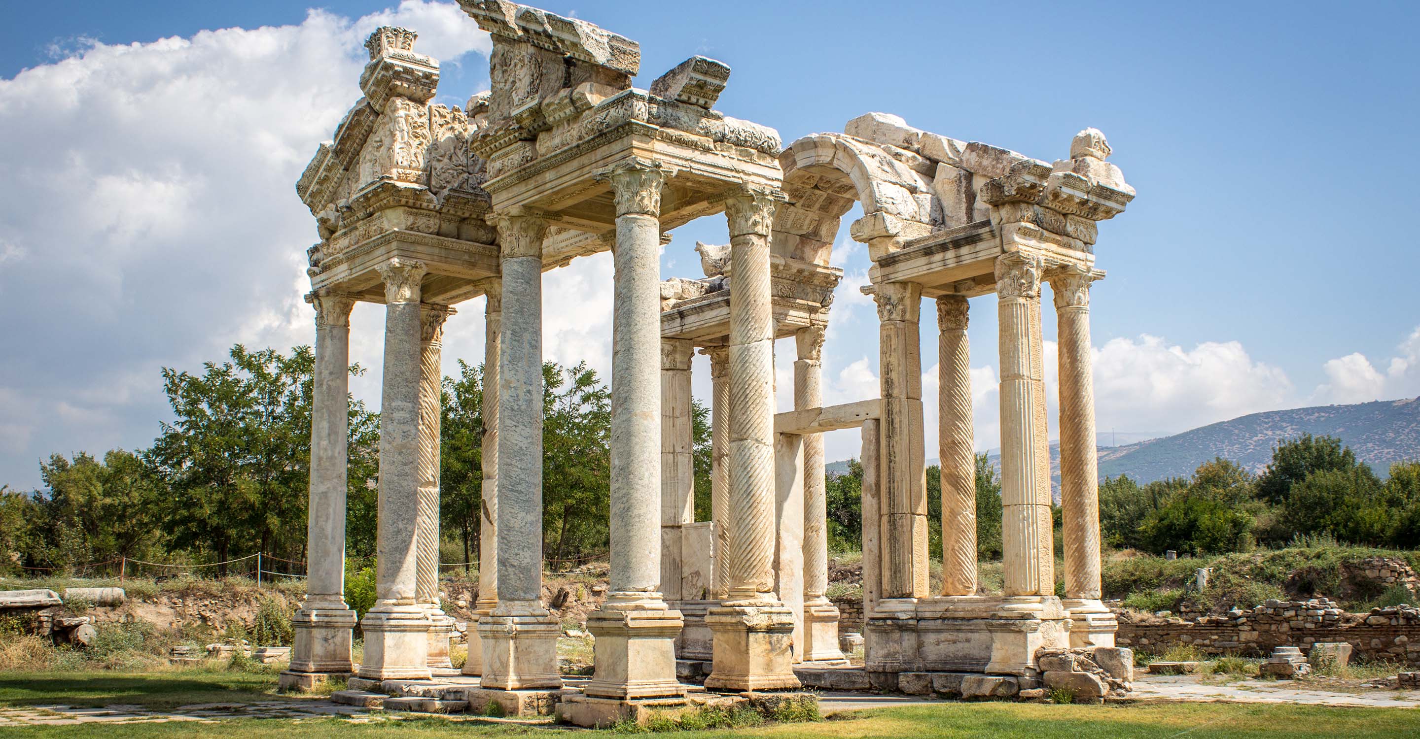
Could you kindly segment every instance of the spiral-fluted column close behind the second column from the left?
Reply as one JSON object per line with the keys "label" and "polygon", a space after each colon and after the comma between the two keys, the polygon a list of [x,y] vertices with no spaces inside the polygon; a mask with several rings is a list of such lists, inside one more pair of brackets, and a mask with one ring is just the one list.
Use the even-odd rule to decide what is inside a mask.
{"label": "spiral-fluted column close behind the second column from the left", "polygon": [[419,559],[415,600],[429,611],[429,667],[453,669],[449,637],[453,618],[439,603],[439,427],[443,414],[443,325],[453,315],[446,305],[422,306],[419,359],[419,509],[415,519]]}

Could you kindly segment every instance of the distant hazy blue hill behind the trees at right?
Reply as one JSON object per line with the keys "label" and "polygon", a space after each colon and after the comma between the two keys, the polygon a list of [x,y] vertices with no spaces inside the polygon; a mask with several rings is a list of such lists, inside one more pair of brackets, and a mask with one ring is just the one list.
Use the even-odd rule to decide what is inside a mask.
{"label": "distant hazy blue hill behind the trees at right", "polygon": [[[1301,434],[1338,437],[1377,475],[1386,477],[1390,462],[1420,460],[1420,399],[1271,410],[1136,444],[1100,447],[1099,478],[1129,475],[1139,482],[1153,482],[1187,477],[1214,457],[1261,472],[1272,460],[1277,440]],[[991,451],[991,464],[1000,469],[1000,450]],[[829,462],[825,469],[829,475],[846,474],[848,461]],[[1051,482],[1056,501],[1059,474],[1059,444],[1052,441]]]}

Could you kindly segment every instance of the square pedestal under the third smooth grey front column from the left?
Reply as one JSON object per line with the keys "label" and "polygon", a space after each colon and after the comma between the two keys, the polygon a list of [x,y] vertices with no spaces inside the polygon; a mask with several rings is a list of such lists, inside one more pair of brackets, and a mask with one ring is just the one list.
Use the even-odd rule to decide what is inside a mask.
{"label": "square pedestal under the third smooth grey front column from the left", "polygon": [[561,688],[557,671],[557,620],[535,604],[498,606],[479,618],[483,641],[480,685],[501,691]]}

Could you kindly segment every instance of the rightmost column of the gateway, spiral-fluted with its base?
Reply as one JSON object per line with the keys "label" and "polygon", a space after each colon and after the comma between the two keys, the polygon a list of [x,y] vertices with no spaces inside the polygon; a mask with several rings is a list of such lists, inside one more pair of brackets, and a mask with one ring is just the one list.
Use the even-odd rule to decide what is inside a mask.
{"label": "rightmost column of the gateway, spiral-fluted with its base", "polygon": [[1089,284],[1095,279],[1083,267],[1051,275],[1059,335],[1064,604],[1074,623],[1071,645],[1113,647],[1116,620],[1100,601],[1099,455],[1089,346]]}

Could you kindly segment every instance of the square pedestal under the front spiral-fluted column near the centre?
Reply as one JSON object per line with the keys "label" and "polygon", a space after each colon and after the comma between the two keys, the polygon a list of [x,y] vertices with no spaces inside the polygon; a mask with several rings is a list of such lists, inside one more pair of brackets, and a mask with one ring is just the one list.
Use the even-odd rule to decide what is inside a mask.
{"label": "square pedestal under the front spiral-fluted column near the centre", "polygon": [[714,633],[709,691],[785,691],[794,677],[794,611],[774,601],[727,601],[706,614]]}

